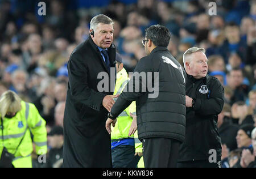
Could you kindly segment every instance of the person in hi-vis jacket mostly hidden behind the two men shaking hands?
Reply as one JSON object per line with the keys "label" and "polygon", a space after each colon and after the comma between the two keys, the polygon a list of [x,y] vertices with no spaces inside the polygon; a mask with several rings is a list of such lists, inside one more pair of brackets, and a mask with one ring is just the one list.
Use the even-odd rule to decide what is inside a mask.
{"label": "person in hi-vis jacket mostly hidden behind the two men shaking hands", "polygon": [[[119,95],[129,82],[129,77],[120,54],[116,53],[115,60],[117,82],[114,95]],[[136,168],[142,156],[142,143],[138,139],[135,101],[117,117],[115,127],[112,126],[111,142],[113,167]]]}

